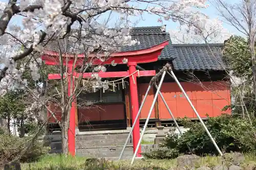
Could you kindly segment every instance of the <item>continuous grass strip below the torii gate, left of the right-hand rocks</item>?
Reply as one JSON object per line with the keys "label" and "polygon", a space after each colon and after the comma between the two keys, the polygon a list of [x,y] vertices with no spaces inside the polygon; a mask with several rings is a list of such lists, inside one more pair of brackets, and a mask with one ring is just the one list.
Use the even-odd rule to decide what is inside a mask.
{"label": "continuous grass strip below the torii gate, left of the right-hand rocks", "polygon": [[65,157],[61,155],[48,155],[42,157],[39,161],[34,163],[25,163],[22,169],[25,170],[96,170],[96,169],[169,169],[176,165],[176,160],[136,160],[133,166],[131,161],[109,161],[102,165],[86,165],[86,158],[84,157]]}

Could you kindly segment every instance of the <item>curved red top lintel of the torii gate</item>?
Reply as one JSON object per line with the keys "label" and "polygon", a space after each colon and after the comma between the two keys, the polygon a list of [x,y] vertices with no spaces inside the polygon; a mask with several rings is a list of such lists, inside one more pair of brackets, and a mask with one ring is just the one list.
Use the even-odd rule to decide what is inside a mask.
{"label": "curved red top lintel of the torii gate", "polygon": [[[149,62],[154,62],[158,60],[158,56],[161,55],[161,52],[164,48],[165,45],[168,45],[168,40],[164,41],[158,45],[152,46],[150,48],[145,48],[142,50],[137,50],[137,51],[127,51],[127,52],[117,52],[113,53],[110,55],[109,59],[102,62],[99,59],[93,60],[94,65],[98,64],[111,64],[111,62],[114,60],[115,63],[117,64],[123,64],[123,59],[126,58],[129,63],[149,63]],[[44,54],[41,56],[41,59],[45,61],[47,65],[58,65],[59,62],[59,53],[58,52],[53,52],[53,51],[45,51]],[[74,55],[72,54],[67,54],[64,55],[62,54],[63,58],[63,63],[68,65],[73,65],[74,63]],[[94,58],[96,55],[91,54],[89,57]],[[104,54],[97,54],[97,56],[102,56],[104,57]],[[84,54],[79,54],[76,65],[81,65],[83,63]]]}

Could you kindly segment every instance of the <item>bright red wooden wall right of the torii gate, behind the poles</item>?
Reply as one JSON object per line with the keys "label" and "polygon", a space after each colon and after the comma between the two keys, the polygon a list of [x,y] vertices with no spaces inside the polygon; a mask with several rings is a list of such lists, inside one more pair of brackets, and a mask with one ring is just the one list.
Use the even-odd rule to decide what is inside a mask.
{"label": "bright red wooden wall right of the torii gate, behind the poles", "polygon": [[[190,82],[181,82],[189,99],[194,104],[201,117],[218,116],[222,113],[221,109],[230,103],[230,86],[227,82],[202,82],[202,85],[196,85]],[[139,85],[140,103],[144,97],[148,84]],[[196,118],[196,114],[185,99],[185,96],[176,83],[163,83],[161,93],[166,103],[175,117]],[[146,118],[150,110],[154,95],[153,90],[147,96],[145,105],[141,112],[141,118]],[[160,119],[171,118],[162,99],[158,97],[158,111]],[[231,110],[225,113],[231,113]],[[154,110],[151,117],[154,117]]]}

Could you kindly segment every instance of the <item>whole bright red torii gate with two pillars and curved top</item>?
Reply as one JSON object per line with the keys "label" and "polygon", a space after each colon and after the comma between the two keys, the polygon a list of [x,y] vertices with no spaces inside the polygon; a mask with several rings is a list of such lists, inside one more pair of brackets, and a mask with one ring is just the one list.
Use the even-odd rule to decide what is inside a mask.
{"label": "whole bright red torii gate with two pillars and curved top", "polygon": [[[100,61],[98,59],[95,59],[93,61],[93,65],[98,65],[98,64],[111,64],[112,61],[114,61],[117,64],[124,64],[122,62],[123,58],[127,59],[127,66],[129,66],[128,71],[116,71],[116,72],[98,72],[99,77],[101,78],[121,78],[121,77],[127,77],[131,74],[133,74],[136,71],[136,65],[138,63],[149,63],[149,62],[154,62],[158,60],[158,56],[160,56],[163,48],[165,45],[168,44],[168,40],[162,42],[159,45],[152,46],[150,48],[146,48],[143,50],[137,50],[137,51],[130,51],[130,52],[118,52],[118,53],[113,53],[110,55],[110,59],[107,61]],[[52,51],[46,51],[42,56],[42,60],[45,61],[45,64],[47,65],[59,65],[59,53],[57,52],[52,52]],[[99,56],[99,55],[97,55]],[[104,55],[101,55],[104,57]],[[90,55],[90,57],[95,57],[94,54]],[[90,58],[89,57],[89,58]],[[78,59],[75,63],[75,66],[81,65],[83,63],[83,58],[84,54],[79,54]],[[82,76],[82,78],[89,78],[91,77],[92,74],[95,73],[77,73],[73,70],[72,72],[72,67],[74,63],[74,55],[63,55],[62,58],[62,63],[64,63],[68,66],[68,95],[71,95],[70,87],[74,86],[74,84],[71,84],[71,74],[74,77],[79,78]],[[132,123],[134,124],[134,119],[139,111],[139,100],[138,100],[138,90],[137,90],[137,77],[138,76],[155,76],[156,71],[155,70],[146,70],[146,71],[139,71],[133,74],[133,76],[129,77],[130,81],[130,95],[131,95],[131,106],[132,106]],[[59,80],[61,78],[60,74],[49,74],[48,79],[49,80]],[[74,81],[73,81],[74,82]],[[69,153],[71,155],[75,155],[75,127],[76,127],[76,100],[72,102],[72,107],[70,110],[70,127],[68,130],[68,147],[69,147]],[[133,149],[135,151],[137,143],[140,138],[140,129],[139,129],[139,121],[136,122],[135,128],[133,130]],[[138,150],[138,157],[141,157],[141,148]]]}

